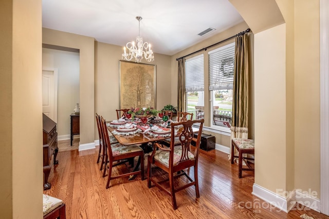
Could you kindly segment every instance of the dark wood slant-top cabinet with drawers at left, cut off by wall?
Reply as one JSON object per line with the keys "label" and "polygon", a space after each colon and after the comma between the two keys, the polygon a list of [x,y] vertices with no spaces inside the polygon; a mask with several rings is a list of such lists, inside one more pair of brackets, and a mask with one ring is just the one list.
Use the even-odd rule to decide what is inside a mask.
{"label": "dark wood slant-top cabinet with drawers at left, cut off by wall", "polygon": [[53,156],[53,164],[58,164],[56,160],[58,153],[57,146],[57,124],[48,116],[42,114],[43,123],[43,172],[44,172],[44,190],[50,189],[48,177],[51,168],[51,159]]}

